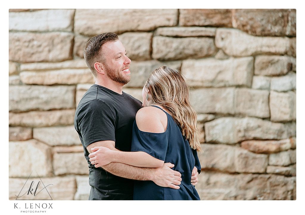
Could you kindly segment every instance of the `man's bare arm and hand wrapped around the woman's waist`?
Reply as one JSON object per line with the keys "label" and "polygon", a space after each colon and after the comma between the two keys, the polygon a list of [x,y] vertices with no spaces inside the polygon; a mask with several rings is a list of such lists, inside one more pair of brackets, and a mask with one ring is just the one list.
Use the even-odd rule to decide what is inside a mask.
{"label": "man's bare arm and hand wrapped around the woman's waist", "polygon": [[[99,141],[88,145],[86,148],[89,153],[92,153],[93,151],[91,149],[98,146],[104,146],[109,149],[119,151],[114,147],[114,141]],[[170,169],[174,167],[174,164],[171,163],[165,163],[162,167],[158,168],[134,167],[116,162],[112,162],[104,166],[96,164],[95,167],[102,167],[111,174],[120,177],[141,181],[153,181],[156,185],[161,187],[170,187],[174,189],[180,188],[177,185],[180,185],[182,180],[179,172]]]}

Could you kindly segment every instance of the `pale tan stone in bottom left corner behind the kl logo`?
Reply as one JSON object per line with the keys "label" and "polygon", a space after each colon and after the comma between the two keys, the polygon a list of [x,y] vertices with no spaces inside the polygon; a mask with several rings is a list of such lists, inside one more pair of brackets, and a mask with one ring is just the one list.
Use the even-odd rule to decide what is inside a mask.
{"label": "pale tan stone in bottom left corner behind the kl logo", "polygon": [[[37,177],[37,176],[36,176]],[[46,186],[48,192],[41,190],[36,196],[34,195],[24,195],[18,199],[51,199],[52,200],[73,200],[74,193],[76,192],[76,182],[75,177],[65,176],[65,177],[37,177],[30,178],[27,181],[27,178],[10,178],[9,179],[9,200],[15,200],[16,196],[24,194],[26,191],[23,188],[23,185],[29,184],[34,181],[34,186],[36,188],[38,182],[43,182],[43,185]],[[41,183],[42,184],[42,183]],[[30,185],[30,184],[29,184]],[[43,186],[40,185],[38,191],[42,189]],[[27,186],[28,189],[28,186]],[[22,190],[22,192],[20,192]],[[24,192],[23,192],[24,191]],[[54,205],[53,205],[54,206]]]}

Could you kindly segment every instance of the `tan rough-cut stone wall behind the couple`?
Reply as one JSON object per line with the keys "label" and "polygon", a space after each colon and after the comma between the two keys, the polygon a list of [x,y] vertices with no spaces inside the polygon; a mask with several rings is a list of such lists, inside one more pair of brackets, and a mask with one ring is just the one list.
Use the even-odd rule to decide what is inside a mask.
{"label": "tan rough-cut stone wall behind the couple", "polygon": [[84,45],[109,31],[132,60],[124,91],[142,100],[162,65],[192,87],[201,199],[296,199],[295,9],[10,9],[9,199],[32,170],[53,199],[88,199],[73,119],[94,83]]}

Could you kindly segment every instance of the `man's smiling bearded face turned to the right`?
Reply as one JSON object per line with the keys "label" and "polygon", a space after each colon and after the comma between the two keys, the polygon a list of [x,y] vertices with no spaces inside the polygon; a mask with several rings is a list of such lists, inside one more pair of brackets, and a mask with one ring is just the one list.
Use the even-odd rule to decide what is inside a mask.
{"label": "man's smiling bearded face turned to the right", "polygon": [[106,75],[120,84],[127,84],[131,77],[129,64],[131,60],[126,56],[126,49],[121,41],[106,42],[102,46],[102,53],[105,58],[104,68]]}

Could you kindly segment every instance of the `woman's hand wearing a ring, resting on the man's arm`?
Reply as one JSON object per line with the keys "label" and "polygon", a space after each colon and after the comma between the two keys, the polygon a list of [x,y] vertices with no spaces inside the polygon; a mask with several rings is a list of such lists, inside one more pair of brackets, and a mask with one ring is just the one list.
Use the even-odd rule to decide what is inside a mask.
{"label": "woman's hand wearing a ring, resting on the man's arm", "polygon": [[91,149],[93,152],[89,154],[89,161],[94,167],[105,166],[113,162],[113,150],[103,146],[97,146]]}

